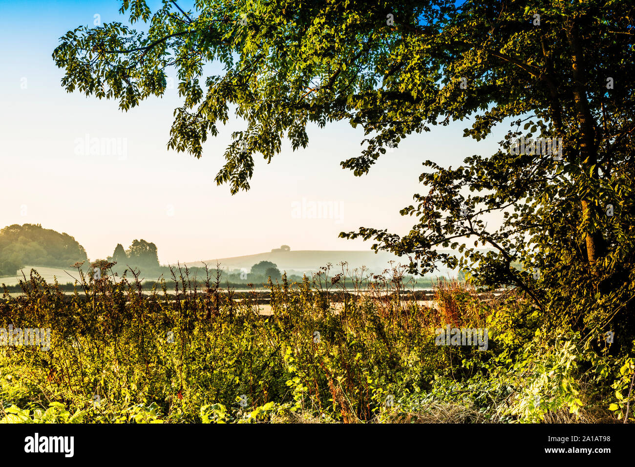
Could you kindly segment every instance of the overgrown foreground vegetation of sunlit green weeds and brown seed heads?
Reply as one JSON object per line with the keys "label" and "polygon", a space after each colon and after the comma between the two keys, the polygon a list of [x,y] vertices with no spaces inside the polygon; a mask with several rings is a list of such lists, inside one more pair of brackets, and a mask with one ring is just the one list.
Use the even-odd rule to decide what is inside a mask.
{"label": "overgrown foreground vegetation of sunlit green weeds and brown seed heads", "polygon": [[[294,289],[271,284],[272,314],[262,316],[256,292],[236,302],[213,278],[194,290],[177,274],[171,291],[105,276],[70,296],[34,274],[23,295],[5,295],[0,327],[50,328],[50,341],[0,349],[3,421],[632,419],[632,362],[573,334],[541,335],[516,289],[495,296],[440,282],[427,307],[408,299],[396,273],[366,291],[318,275]],[[446,327],[485,330],[485,341],[439,345]]]}

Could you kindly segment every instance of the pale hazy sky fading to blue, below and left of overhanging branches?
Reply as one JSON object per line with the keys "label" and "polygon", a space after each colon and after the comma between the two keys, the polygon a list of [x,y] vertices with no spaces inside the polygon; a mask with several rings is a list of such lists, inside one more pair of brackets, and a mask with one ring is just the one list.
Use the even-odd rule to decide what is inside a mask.
{"label": "pale hazy sky fading to blue, below and left of overhanging branches", "polygon": [[[158,2],[149,2],[155,11]],[[183,4],[184,6],[187,3]],[[363,250],[370,242],[338,238],[360,226],[406,233],[421,163],[457,166],[495,152],[493,137],[462,137],[466,122],[411,135],[382,156],[369,175],[354,177],[340,161],[357,155],[361,130],[347,123],[309,128],[307,149],[288,144],[267,165],[256,159],[251,190],[234,196],[214,177],[236,119],[204,146],[203,157],[168,151],[177,90],[127,113],[116,101],[66,93],[51,58],[60,36],[79,25],[126,22],[119,1],[0,0],[0,227],[42,224],[69,233],[91,259],[127,248],[135,238],[156,243],[159,261],[197,261],[291,250]],[[138,29],[142,29],[138,27]],[[88,135],[88,136],[87,136]],[[88,138],[88,146],[83,141]],[[91,140],[114,139],[119,151],[91,155]],[[302,208],[304,200],[304,210]],[[333,203],[333,219],[308,219],[311,203]]]}

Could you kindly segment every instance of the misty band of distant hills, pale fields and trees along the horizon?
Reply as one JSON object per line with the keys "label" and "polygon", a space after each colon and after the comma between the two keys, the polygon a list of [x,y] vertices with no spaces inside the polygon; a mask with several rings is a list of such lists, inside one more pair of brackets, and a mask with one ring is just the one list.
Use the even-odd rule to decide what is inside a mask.
{"label": "misty band of distant hills, pale fields and trees along the horizon", "polygon": [[[293,281],[302,281],[303,276],[311,278],[323,269],[337,273],[356,273],[370,276],[383,274],[386,271],[404,271],[410,264],[408,257],[399,258],[387,252],[371,251],[293,251],[288,245],[272,248],[270,252],[256,255],[243,255],[231,258],[206,259],[204,261],[189,261],[176,264],[159,264],[158,248],[154,243],[145,240],[135,240],[128,250],[121,244],[114,248],[112,255],[105,259],[90,259],[84,247],[72,236],[60,234],[39,225],[13,225],[0,229],[0,283],[18,290],[20,281],[29,278],[35,270],[47,282],[57,281],[61,284],[81,282],[83,276],[93,274],[95,266],[101,262],[112,262],[109,269],[116,272],[113,280],[118,281],[128,270],[138,271],[143,281],[157,281],[161,277],[169,279],[170,267],[187,267],[192,276],[202,279],[204,268],[218,270],[223,281],[237,286],[256,283],[264,286],[271,277],[273,281],[281,278],[285,273]],[[79,267],[73,267],[81,262]],[[267,267],[261,266],[266,264]],[[58,266],[58,267],[51,267]],[[260,274],[255,271],[260,267]],[[271,274],[267,268],[271,267]],[[460,273],[460,271],[458,271]],[[430,274],[426,280],[422,276],[418,287],[430,287],[431,278],[451,278],[457,276],[457,271],[439,269],[436,274]],[[260,282],[258,284],[258,281]],[[413,283],[414,284],[414,283]]]}

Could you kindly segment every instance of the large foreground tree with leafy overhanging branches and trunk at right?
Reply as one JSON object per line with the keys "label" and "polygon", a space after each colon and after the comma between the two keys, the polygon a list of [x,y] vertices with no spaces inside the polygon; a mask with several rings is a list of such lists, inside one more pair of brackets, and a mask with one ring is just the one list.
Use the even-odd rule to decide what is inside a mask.
{"label": "large foreground tree with leafy overhanging branches and trunk at right", "polygon": [[[305,147],[309,122],[364,128],[363,151],[341,163],[355,175],[386,147],[450,120],[472,118],[464,135],[476,140],[508,128],[490,156],[457,168],[425,161],[426,191],[401,211],[417,218],[410,233],[340,236],[408,255],[413,273],[442,262],[479,283],[519,287],[543,316],[562,316],[585,335],[613,323],[618,346],[635,334],[632,3],[196,4],[196,12],[173,2],[152,14],[144,1],[124,2],[132,22],[151,20],[147,35],[119,23],[69,31],[53,53],[62,85],[118,98],[127,110],[161,95],[165,67],[176,67],[184,105],[168,147],[199,158],[230,106],[246,121],[216,177],[232,193],[249,188],[255,153],[271,161],[284,137]],[[211,60],[224,74],[204,79]],[[521,137],[529,144],[516,147]],[[547,139],[557,149],[544,154]],[[488,226],[483,215],[494,212],[503,221]],[[479,252],[479,243],[493,250]],[[450,246],[463,256],[436,250]]]}

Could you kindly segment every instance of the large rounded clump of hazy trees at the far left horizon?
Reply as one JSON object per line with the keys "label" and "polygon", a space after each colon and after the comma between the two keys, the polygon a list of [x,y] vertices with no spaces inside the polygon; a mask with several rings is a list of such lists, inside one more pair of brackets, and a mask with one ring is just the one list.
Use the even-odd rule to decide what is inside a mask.
{"label": "large rounded clump of hazy trees at the far left horizon", "polygon": [[86,258],[75,238],[41,224],[13,224],[0,230],[0,276],[13,275],[24,266],[69,267]]}

